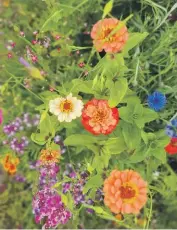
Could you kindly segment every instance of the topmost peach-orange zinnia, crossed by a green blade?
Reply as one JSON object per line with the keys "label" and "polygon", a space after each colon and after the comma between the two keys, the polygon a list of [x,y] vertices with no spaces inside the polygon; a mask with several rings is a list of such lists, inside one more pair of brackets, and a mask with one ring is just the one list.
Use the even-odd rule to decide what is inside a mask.
{"label": "topmost peach-orange zinnia, crossed by a green blade", "polygon": [[[91,37],[98,52],[104,49],[106,53],[117,53],[123,49],[128,40],[128,32],[127,27],[120,23],[116,18],[105,18],[93,26]],[[116,30],[119,25],[120,29]],[[114,29],[115,33],[112,32]]]}

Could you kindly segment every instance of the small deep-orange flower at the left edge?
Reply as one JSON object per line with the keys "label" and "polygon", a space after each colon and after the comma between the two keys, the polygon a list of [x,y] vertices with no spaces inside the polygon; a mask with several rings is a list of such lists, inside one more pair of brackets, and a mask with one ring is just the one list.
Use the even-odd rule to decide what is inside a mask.
{"label": "small deep-orange flower at the left edge", "polygon": [[10,175],[14,175],[17,171],[17,165],[20,163],[18,157],[12,156],[11,154],[6,154],[6,156],[1,160],[4,170]]}

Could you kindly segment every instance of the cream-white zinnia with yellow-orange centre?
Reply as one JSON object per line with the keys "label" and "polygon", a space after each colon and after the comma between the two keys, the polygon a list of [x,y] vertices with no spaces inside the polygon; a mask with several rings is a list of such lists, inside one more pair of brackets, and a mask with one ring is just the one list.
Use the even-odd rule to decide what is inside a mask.
{"label": "cream-white zinnia with yellow-orange centre", "polygon": [[58,117],[60,122],[71,122],[81,116],[83,102],[70,93],[66,98],[58,97],[49,102],[49,111]]}

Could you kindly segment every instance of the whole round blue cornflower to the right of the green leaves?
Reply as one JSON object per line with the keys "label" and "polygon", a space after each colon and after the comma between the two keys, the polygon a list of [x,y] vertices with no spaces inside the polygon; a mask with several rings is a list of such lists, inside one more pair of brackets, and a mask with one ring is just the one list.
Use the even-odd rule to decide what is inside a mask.
{"label": "whole round blue cornflower to the right of the green leaves", "polygon": [[155,111],[163,109],[166,102],[166,96],[158,91],[148,96],[148,105]]}

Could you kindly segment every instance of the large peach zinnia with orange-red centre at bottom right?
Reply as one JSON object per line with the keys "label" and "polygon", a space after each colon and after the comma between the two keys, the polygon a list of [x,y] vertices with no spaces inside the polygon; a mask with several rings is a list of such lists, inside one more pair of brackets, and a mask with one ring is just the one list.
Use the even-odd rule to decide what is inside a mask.
{"label": "large peach zinnia with orange-red centre at bottom right", "polygon": [[147,201],[147,183],[133,170],[113,170],[103,191],[105,205],[116,214],[138,214]]}

